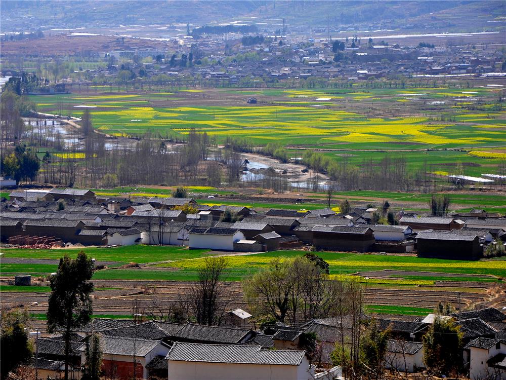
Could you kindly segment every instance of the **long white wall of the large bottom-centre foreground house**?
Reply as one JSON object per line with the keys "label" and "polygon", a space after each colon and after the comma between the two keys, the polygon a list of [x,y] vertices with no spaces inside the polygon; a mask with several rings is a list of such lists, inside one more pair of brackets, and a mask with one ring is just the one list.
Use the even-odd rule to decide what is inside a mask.
{"label": "long white wall of the large bottom-centre foreground house", "polygon": [[299,366],[168,362],[168,380],[310,380],[313,376],[314,370],[306,359]]}

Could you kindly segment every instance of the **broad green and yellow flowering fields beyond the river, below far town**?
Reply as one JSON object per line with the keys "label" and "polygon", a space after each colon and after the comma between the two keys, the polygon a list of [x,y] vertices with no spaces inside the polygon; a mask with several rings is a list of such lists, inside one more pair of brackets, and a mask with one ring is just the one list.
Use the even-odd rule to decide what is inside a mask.
{"label": "broad green and yellow flowering fields beyond the river, below far town", "polygon": [[[384,153],[377,150],[388,150],[406,157],[411,169],[427,162],[430,171],[450,172],[443,164],[461,163],[466,175],[479,176],[482,166],[493,171],[504,160],[506,150],[500,148],[506,147],[506,112],[497,102],[500,94],[486,87],[206,89],[31,99],[50,113],[62,104],[74,116],[82,113],[76,105],[95,107],[94,127],[111,136],[150,131],[185,138],[195,129],[218,142],[242,136],[258,145],[334,149],[329,154],[333,160],[354,164],[381,158]],[[249,96],[258,103],[246,104]],[[427,151],[455,148],[466,151]],[[350,151],[350,159],[342,156]]]}

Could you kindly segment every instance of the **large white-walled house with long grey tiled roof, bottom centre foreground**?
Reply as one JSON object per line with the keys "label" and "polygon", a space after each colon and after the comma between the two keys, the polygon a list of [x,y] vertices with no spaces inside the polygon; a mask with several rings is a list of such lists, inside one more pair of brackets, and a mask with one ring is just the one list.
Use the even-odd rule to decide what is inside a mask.
{"label": "large white-walled house with long grey tiled roof, bottom centre foreground", "polygon": [[266,350],[260,346],[177,342],[167,354],[168,380],[312,380],[305,351]]}

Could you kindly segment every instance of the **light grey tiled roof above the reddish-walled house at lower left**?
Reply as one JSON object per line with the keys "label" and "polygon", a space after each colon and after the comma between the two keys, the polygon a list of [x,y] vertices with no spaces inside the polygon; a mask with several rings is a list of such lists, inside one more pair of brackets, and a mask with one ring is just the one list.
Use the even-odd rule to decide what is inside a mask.
{"label": "light grey tiled roof above the reddish-walled house at lower left", "polygon": [[[100,336],[100,349],[102,353],[109,355],[125,355],[144,357],[156,346],[162,344],[159,340],[132,339],[116,336]],[[79,351],[85,351],[85,345],[79,347]]]}

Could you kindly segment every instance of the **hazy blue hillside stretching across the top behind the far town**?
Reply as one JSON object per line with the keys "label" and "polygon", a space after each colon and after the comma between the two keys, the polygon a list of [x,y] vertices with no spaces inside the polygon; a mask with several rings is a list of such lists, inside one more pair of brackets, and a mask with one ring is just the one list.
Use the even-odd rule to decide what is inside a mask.
{"label": "hazy blue hillside stretching across the top behind the far town", "polygon": [[[458,26],[474,30],[473,17],[504,15],[503,1],[9,1],[2,3],[2,30],[51,25],[54,28],[165,25],[251,20],[264,27],[288,25],[332,27],[358,23],[385,28],[410,23]],[[252,18],[254,17],[254,18]],[[473,20],[473,22],[471,22]],[[486,21],[485,21],[486,22]],[[478,23],[479,24],[479,23]],[[489,24],[490,25],[490,24]],[[492,25],[497,27],[499,25]]]}

